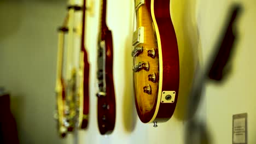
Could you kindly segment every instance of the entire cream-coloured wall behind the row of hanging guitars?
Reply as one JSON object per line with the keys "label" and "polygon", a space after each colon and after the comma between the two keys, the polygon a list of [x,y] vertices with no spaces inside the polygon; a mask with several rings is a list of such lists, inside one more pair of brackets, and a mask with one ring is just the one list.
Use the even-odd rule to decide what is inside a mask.
{"label": "entire cream-coloured wall behind the row of hanging guitars", "polygon": [[[206,60],[217,39],[218,29],[222,27],[226,8],[232,1],[171,1],[181,65],[179,99],[171,120],[153,128],[153,124],[143,124],[139,120],[133,99],[133,1],[108,0],[107,23],[113,33],[117,100],[116,125],[113,134],[108,136],[101,136],[97,128],[95,71],[99,1],[90,1],[95,2],[95,15],[88,16],[86,21],[86,47],[91,65],[89,128],[68,135],[66,143],[183,143],[186,95],[198,64],[197,55]],[[241,40],[236,46],[232,74],[221,85],[207,85],[206,99],[200,108],[201,119],[207,120],[214,143],[231,143],[232,114],[241,112],[248,112],[248,143],[256,141],[253,137],[255,3],[252,0],[242,2],[246,10],[239,20]],[[0,2],[0,7],[0,16],[6,20],[0,23],[0,85],[7,87],[13,95],[12,109],[21,143],[64,143],[57,137],[52,116],[55,109],[56,27],[65,16],[66,1],[5,1]],[[5,11],[8,10],[14,13],[7,17]]]}

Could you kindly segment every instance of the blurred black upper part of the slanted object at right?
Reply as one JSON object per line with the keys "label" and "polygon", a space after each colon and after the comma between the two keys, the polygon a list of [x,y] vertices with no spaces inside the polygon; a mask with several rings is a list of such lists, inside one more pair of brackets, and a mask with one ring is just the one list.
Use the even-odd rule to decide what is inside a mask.
{"label": "blurred black upper part of the slanted object at right", "polygon": [[[223,35],[220,36],[219,43],[217,44],[218,53],[215,58],[212,68],[208,77],[212,80],[222,80],[222,78],[231,70],[229,59],[234,51],[234,41],[236,40],[236,27],[233,26],[236,16],[241,12],[240,5],[235,5],[230,11],[230,17],[226,21],[226,28],[224,28]],[[218,48],[219,47],[219,48]]]}

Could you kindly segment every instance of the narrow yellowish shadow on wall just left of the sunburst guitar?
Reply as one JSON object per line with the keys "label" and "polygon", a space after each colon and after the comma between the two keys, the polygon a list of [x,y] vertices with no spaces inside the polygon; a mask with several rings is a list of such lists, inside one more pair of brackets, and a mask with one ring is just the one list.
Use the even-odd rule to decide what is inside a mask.
{"label": "narrow yellowish shadow on wall just left of the sunburst guitar", "polygon": [[[130,7],[132,11],[133,7]],[[135,95],[133,93],[133,76],[132,76],[132,57],[131,57],[131,50],[132,50],[132,18],[133,15],[130,16],[130,26],[129,26],[129,35],[126,38],[125,44],[125,69],[124,75],[126,76],[126,82],[124,86],[124,100],[123,100],[123,123],[124,129],[126,132],[131,133],[137,123],[137,111],[135,107]]]}

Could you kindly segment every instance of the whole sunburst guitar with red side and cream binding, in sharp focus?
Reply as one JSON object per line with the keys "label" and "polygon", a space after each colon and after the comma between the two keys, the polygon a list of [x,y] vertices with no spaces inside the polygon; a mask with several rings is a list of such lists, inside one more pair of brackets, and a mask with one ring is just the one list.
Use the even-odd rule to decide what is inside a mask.
{"label": "whole sunburst guitar with red side and cream binding, in sharp focus", "polygon": [[170,16],[170,0],[135,0],[133,85],[143,123],[168,121],[179,91],[179,54]]}

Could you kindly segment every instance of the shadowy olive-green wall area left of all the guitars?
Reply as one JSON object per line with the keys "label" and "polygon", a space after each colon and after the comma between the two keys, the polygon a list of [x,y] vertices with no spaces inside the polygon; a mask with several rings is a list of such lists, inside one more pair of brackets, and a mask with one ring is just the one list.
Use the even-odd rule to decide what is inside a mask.
{"label": "shadowy olive-green wall area left of all the guitars", "polygon": [[0,2],[0,86],[11,93],[20,143],[65,143],[53,118],[57,26],[66,2]]}

